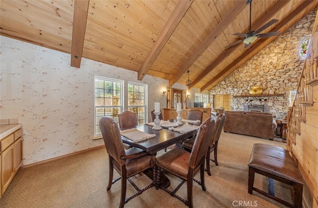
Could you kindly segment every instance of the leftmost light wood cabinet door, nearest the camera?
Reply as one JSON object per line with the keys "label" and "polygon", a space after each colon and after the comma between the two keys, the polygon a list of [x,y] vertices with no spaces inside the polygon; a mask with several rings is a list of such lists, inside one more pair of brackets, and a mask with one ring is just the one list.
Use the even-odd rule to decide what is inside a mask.
{"label": "leftmost light wood cabinet door, nearest the camera", "polygon": [[1,153],[1,194],[10,184],[14,176],[14,145]]}

